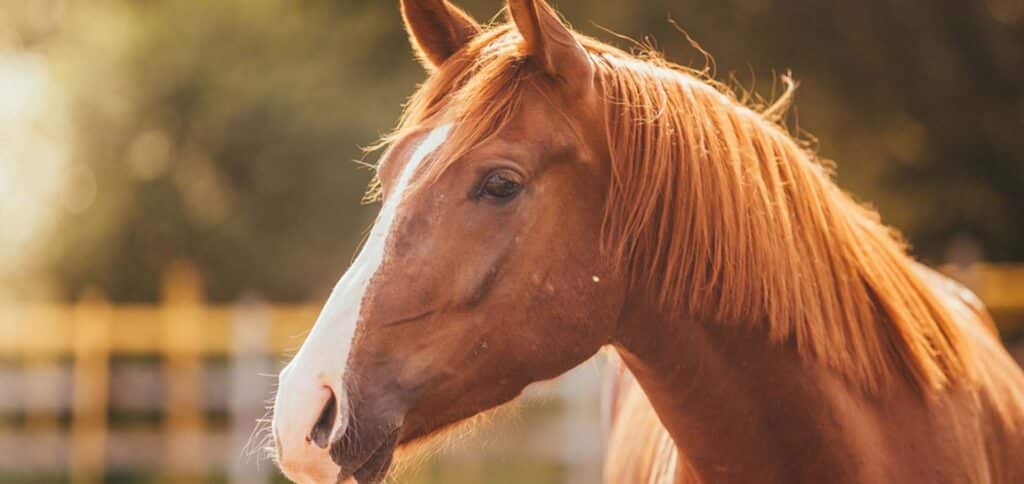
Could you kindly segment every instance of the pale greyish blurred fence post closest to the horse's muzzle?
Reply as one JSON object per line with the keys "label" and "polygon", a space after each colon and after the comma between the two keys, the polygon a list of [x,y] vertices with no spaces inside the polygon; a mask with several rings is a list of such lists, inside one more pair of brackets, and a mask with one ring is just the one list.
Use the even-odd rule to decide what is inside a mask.
{"label": "pale greyish blurred fence post closest to the horse's muzzle", "polygon": [[[268,432],[262,402],[270,395],[273,371],[269,351],[269,308],[254,297],[245,297],[238,305],[231,321],[230,411],[231,482],[256,484],[269,480],[270,466],[260,467],[260,458]],[[257,426],[261,431],[254,431]]]}

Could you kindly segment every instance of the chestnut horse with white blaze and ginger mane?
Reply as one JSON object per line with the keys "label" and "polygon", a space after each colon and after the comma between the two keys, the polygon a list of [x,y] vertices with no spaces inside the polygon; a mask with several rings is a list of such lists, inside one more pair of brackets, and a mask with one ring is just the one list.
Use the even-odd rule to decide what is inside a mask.
{"label": "chestnut horse with white blaze and ginger mane", "polygon": [[980,305],[777,105],[544,0],[506,10],[401,1],[429,76],[381,143],[366,244],[279,377],[286,476],[382,482],[397,449],[610,348],[635,378],[611,459],[656,440],[657,482],[1024,482],[1024,373]]}

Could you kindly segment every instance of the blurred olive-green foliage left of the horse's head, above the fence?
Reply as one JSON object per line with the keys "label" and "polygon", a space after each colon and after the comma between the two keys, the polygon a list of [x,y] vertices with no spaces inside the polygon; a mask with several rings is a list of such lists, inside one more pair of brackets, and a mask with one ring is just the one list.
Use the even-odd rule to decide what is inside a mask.
{"label": "blurred olive-green foliage left of the horse's head, above the fence", "polygon": [[[415,65],[393,11],[357,2],[108,2],[75,12],[63,58],[96,202],[69,216],[74,291],[152,300],[172,260],[214,299],[323,292],[373,210],[351,163],[399,111]],[[354,46],[358,46],[355,48]],[[398,62],[395,62],[398,63]]]}

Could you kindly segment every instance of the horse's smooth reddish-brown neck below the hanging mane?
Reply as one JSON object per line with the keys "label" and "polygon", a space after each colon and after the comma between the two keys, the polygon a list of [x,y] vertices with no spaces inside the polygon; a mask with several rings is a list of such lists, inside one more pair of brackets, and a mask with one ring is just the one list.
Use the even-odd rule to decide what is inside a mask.
{"label": "horse's smooth reddish-brown neck below the hanging mane", "polygon": [[[822,470],[857,475],[851,450],[865,443],[870,403],[856,386],[771,343],[763,324],[703,324],[646,307],[625,315],[616,349],[703,482],[785,482],[795,469],[808,482],[828,478]],[[737,474],[748,471],[757,474]]]}

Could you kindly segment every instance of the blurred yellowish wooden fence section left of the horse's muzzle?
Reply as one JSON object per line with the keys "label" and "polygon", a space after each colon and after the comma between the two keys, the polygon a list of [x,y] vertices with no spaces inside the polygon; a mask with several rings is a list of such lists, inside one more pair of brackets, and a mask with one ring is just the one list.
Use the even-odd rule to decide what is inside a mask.
{"label": "blurred yellowish wooden fence section left of the horse's muzzle", "polygon": [[[0,448],[0,454],[8,460],[16,456],[15,461],[0,465],[0,471],[16,466],[38,471],[56,460],[65,469],[49,471],[75,482],[99,480],[111,450],[108,419],[116,387],[111,382],[114,358],[156,357],[158,361],[158,375],[147,376],[161,380],[157,408],[153,408],[153,395],[140,399],[151,403],[141,405],[143,412],[159,414],[154,420],[160,423],[156,435],[162,440],[158,444],[162,468],[183,470],[186,475],[207,471],[202,464],[209,460],[204,452],[210,447],[203,443],[210,410],[204,398],[204,363],[211,358],[226,360],[233,373],[221,381],[233,387],[223,392],[232,398],[219,406],[237,422],[231,440],[243,441],[230,447],[243,447],[256,419],[262,416],[272,389],[270,375],[279,369],[276,361],[301,345],[318,307],[268,306],[256,301],[210,306],[203,301],[202,288],[193,266],[176,264],[165,276],[160,305],[112,305],[101,294],[86,292],[74,305],[0,307],[0,361],[22,377],[19,382],[8,382],[6,389],[0,387],[0,412],[20,417],[8,419],[0,430],[0,436],[13,436],[6,442],[8,451]],[[71,382],[62,385],[60,368],[68,366]],[[70,388],[70,395],[61,395],[63,387]],[[154,390],[153,385],[144,388]],[[20,426],[18,420],[24,421]],[[20,435],[12,432],[16,427],[22,427]],[[47,438],[65,441],[66,448],[57,445],[48,450],[57,454],[54,459],[33,466],[34,457],[24,455],[24,446]],[[123,453],[130,455],[132,450]],[[240,459],[233,457],[228,461]]]}

